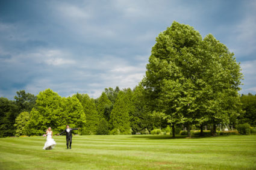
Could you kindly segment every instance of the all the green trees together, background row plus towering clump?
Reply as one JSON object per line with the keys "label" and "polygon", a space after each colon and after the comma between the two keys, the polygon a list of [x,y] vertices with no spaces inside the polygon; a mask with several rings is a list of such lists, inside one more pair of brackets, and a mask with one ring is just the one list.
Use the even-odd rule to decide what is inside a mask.
{"label": "all the green trees together, background row plus towering clump", "polygon": [[192,26],[173,22],[152,47],[146,74],[133,90],[105,88],[98,99],[87,94],[60,97],[47,89],[37,96],[17,92],[0,98],[1,136],[55,133],[66,124],[81,135],[149,133],[158,128],[203,130],[249,123],[255,126],[252,94],[240,96],[242,73],[234,53],[213,35],[202,38]]}

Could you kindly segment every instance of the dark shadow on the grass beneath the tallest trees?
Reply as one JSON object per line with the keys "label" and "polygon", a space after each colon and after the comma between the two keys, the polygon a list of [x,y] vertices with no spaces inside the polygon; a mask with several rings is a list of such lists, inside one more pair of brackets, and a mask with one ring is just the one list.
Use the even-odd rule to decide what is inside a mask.
{"label": "dark shadow on the grass beneath the tallest trees", "polygon": [[192,136],[192,138],[187,138],[186,135],[175,135],[173,138],[171,135],[133,135],[130,138],[137,138],[137,139],[201,139],[201,138],[216,138],[218,136]]}

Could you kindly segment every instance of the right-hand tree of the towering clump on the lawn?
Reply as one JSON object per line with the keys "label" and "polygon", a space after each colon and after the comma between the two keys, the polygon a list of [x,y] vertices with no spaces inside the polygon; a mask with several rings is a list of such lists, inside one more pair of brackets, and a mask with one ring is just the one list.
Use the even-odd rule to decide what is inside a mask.
{"label": "right-hand tree of the towering clump on the lawn", "polygon": [[207,83],[207,94],[204,98],[206,118],[213,124],[213,135],[216,124],[229,124],[230,119],[242,112],[240,102],[240,84],[242,73],[234,53],[209,34],[202,43],[202,54],[207,58],[204,81]]}

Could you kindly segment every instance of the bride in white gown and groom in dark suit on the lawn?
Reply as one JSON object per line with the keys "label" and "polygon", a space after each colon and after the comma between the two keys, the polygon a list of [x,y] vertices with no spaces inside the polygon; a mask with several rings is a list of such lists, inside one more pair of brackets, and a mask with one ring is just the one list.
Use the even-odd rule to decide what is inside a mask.
{"label": "bride in white gown and groom in dark suit on the lawn", "polygon": [[[78,130],[80,128],[76,128],[76,129],[72,129],[69,128],[69,125],[66,126],[66,129],[61,132],[58,135],[61,135],[62,133],[66,132],[66,141],[67,141],[67,149],[71,149],[71,144],[72,144],[72,131],[73,130]],[[45,147],[43,147],[43,150],[52,150],[54,148],[54,146],[56,145],[56,142],[54,141],[54,139],[52,139],[52,130],[51,127],[48,128],[48,130],[46,131],[46,135],[47,135],[47,140],[45,142]]]}

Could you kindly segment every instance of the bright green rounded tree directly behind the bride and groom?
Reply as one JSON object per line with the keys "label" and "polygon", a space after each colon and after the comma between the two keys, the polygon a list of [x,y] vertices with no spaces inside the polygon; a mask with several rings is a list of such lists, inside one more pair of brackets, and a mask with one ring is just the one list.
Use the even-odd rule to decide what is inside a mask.
{"label": "bright green rounded tree directly behind the bride and groom", "polygon": [[66,124],[83,130],[85,123],[83,106],[75,96],[61,98],[47,89],[38,94],[36,106],[30,112],[28,135],[42,135],[48,127],[52,127],[54,133],[59,133]]}

